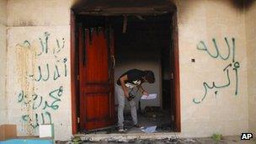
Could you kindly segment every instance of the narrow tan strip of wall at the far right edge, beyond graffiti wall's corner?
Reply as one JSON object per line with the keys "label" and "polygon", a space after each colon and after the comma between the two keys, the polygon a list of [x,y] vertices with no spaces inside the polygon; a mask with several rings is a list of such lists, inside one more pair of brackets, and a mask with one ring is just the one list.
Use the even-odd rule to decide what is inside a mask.
{"label": "narrow tan strip of wall at the far right edge, beyond graffiti wall's corner", "polygon": [[255,64],[255,35],[256,35],[256,3],[246,9],[246,42],[248,56],[248,106],[249,106],[249,130],[256,134],[256,64]]}

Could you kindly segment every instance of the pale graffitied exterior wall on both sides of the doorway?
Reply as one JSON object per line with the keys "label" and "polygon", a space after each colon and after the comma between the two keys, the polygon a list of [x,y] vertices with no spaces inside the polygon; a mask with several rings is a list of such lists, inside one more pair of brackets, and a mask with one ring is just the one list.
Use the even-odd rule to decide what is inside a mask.
{"label": "pale graffitied exterior wall on both sides of the doorway", "polygon": [[[44,122],[55,124],[57,140],[72,136],[71,6],[72,0],[8,1],[8,122],[19,125],[19,136],[37,134]],[[177,7],[181,135],[248,131],[243,9],[215,0],[177,0]]]}

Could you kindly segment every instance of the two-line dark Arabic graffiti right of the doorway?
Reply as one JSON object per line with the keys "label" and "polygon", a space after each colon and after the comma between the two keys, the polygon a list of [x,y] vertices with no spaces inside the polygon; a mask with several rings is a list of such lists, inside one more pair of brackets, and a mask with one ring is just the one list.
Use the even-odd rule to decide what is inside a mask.
{"label": "two-line dark Arabic graffiti right of the doorway", "polygon": [[[197,50],[200,50],[200,51],[206,51],[209,56],[211,56],[212,58],[218,58],[220,57],[221,60],[228,60],[229,57],[230,57],[230,53],[231,53],[231,48],[230,48],[230,45],[229,45],[229,42],[227,40],[227,38],[225,38],[225,41],[226,41],[226,44],[227,44],[227,50],[228,50],[228,54],[226,57],[224,56],[221,56],[221,52],[219,51],[219,48],[216,44],[216,40],[213,39],[213,44],[215,45],[215,49],[216,49],[216,53],[215,54],[212,54],[207,46],[205,45],[205,42],[204,41],[200,41],[200,43],[197,45]],[[238,71],[237,69],[240,67],[240,64],[238,61],[235,61],[235,50],[236,50],[236,45],[235,45],[235,39],[232,38],[232,63],[228,64],[227,67],[225,67],[223,69],[223,72],[226,72],[227,73],[227,83],[225,84],[221,84],[221,85],[217,85],[215,82],[212,82],[212,84],[208,84],[208,83],[203,83],[203,87],[205,89],[205,93],[203,96],[201,96],[201,99],[193,99],[193,102],[195,104],[200,104],[206,97],[207,93],[208,93],[208,89],[212,89],[212,88],[216,88],[216,91],[215,91],[215,94],[217,94],[218,92],[218,89],[220,88],[227,88],[228,86],[230,86],[231,84],[231,80],[230,80],[230,76],[229,76],[229,70],[228,68],[232,67],[232,70],[235,71],[235,77],[236,77],[236,88],[235,88],[235,95],[237,95],[238,93]]]}

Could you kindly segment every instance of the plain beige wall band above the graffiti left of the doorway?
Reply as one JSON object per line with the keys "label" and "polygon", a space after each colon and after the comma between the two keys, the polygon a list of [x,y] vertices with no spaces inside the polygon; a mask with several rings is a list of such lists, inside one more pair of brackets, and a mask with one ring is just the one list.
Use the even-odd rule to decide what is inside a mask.
{"label": "plain beige wall band above the graffiti left of the doorway", "polygon": [[70,7],[75,0],[10,0],[8,26],[58,26],[70,23]]}

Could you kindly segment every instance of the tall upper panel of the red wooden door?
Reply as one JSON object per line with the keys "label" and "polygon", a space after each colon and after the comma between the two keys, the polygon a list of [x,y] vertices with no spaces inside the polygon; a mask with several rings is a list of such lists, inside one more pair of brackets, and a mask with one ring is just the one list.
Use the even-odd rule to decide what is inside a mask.
{"label": "tall upper panel of the red wooden door", "polygon": [[84,80],[86,83],[109,83],[109,49],[104,39],[104,31],[97,35],[91,34],[91,40],[86,31],[86,69]]}

